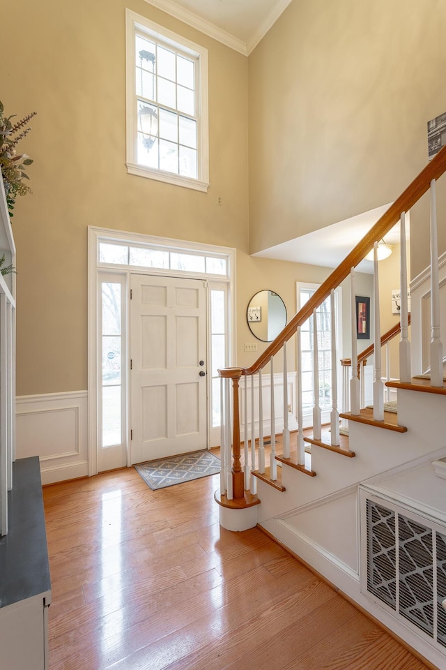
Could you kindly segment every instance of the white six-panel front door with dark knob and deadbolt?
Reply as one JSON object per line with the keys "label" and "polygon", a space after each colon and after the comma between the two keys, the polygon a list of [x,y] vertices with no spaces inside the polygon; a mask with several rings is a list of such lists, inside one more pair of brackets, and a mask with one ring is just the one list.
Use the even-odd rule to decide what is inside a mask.
{"label": "white six-panel front door with dark knob and deadbolt", "polygon": [[206,283],[131,277],[131,461],[206,449]]}

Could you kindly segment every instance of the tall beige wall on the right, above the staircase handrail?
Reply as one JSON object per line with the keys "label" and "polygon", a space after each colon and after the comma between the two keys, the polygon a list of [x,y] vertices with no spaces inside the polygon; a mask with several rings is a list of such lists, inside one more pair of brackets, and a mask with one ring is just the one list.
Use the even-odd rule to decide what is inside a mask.
{"label": "tall beige wall on the right, above the staircase handrail", "polygon": [[392,202],[420,172],[446,111],[445,25],[443,0],[291,2],[249,57],[252,252]]}

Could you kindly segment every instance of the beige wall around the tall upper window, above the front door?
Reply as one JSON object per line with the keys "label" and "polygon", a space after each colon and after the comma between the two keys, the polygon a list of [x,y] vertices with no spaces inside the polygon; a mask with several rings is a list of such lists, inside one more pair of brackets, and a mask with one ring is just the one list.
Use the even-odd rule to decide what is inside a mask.
{"label": "beige wall around the tall upper window, above the front door", "polygon": [[[127,174],[125,7],[208,49],[207,194]],[[13,218],[17,394],[85,389],[88,225],[247,252],[247,58],[142,0],[1,8],[1,100],[38,112],[21,145],[33,195]]]}

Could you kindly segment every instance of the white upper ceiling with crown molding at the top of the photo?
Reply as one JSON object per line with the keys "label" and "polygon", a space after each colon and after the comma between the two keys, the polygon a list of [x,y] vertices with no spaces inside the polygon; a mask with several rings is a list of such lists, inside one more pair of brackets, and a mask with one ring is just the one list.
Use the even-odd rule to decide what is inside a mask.
{"label": "white upper ceiling with crown molding at the top of the photo", "polygon": [[229,47],[249,54],[291,0],[146,0]]}

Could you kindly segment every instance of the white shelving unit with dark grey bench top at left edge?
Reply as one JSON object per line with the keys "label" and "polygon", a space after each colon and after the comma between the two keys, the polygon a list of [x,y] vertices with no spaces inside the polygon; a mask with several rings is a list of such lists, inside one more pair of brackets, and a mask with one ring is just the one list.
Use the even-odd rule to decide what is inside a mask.
{"label": "white shelving unit with dark grey bench top at left edge", "polygon": [[[15,244],[0,173],[1,267]],[[51,584],[38,456],[15,461],[15,274],[0,274],[0,667],[48,668]]]}

